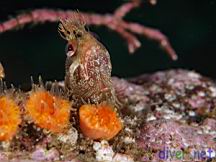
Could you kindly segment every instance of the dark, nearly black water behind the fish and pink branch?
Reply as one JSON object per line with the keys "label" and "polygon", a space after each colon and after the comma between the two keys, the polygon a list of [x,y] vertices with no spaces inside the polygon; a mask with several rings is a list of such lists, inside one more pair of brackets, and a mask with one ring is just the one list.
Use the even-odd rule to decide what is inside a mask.
{"label": "dark, nearly black water behind the fish and pink branch", "polygon": [[[36,8],[79,9],[85,12],[112,13],[124,0],[26,0],[0,1],[0,22]],[[142,47],[129,55],[126,42],[106,27],[91,26],[108,48],[113,75],[132,77],[171,68],[186,68],[216,78],[216,1],[158,0],[156,6],[144,3],[126,16],[165,33],[179,55],[171,61],[158,44],[139,37]],[[6,81],[15,85],[30,83],[30,76],[63,80],[65,41],[57,23],[28,25],[0,35],[0,61]]]}

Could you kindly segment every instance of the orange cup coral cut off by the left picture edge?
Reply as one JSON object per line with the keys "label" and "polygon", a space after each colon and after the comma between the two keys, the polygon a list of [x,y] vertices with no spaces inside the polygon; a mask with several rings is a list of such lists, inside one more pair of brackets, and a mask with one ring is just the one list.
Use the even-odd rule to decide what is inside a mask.
{"label": "orange cup coral cut off by the left picture edge", "polygon": [[18,105],[6,96],[0,97],[0,141],[10,140],[21,123]]}

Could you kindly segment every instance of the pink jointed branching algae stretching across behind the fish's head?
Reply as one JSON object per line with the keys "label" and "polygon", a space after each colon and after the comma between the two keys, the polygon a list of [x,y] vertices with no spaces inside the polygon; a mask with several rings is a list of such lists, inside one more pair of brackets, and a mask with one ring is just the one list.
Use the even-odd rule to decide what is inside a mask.
{"label": "pink jointed branching algae stretching across behind the fish's head", "polygon": [[[155,0],[150,0],[151,4],[155,4]],[[119,33],[128,44],[130,53],[134,53],[137,48],[141,46],[140,41],[135,34],[142,35],[150,40],[156,41],[160,44],[162,49],[173,59],[177,59],[177,54],[169,43],[168,38],[159,30],[146,27],[139,23],[127,22],[123,17],[132,9],[139,7],[140,0],[132,0],[125,3],[116,9],[114,14],[92,14],[76,11],[62,11],[51,9],[36,9],[28,13],[18,15],[8,21],[0,23],[0,33],[12,30],[19,26],[24,26],[30,23],[44,23],[44,22],[58,22],[59,19],[66,19],[73,17],[74,21],[83,18],[88,25],[106,26],[111,30]]]}

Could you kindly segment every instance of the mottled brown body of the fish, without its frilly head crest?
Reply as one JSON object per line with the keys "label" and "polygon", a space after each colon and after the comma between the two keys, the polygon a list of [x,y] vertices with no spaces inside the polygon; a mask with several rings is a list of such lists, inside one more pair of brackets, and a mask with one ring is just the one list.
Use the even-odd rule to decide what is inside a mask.
{"label": "mottled brown body of the fish, without its frilly head crest", "polygon": [[111,81],[112,66],[108,51],[87,31],[82,31],[82,36],[75,40],[76,43],[74,39],[68,40],[76,51],[66,59],[66,88],[79,101],[115,103],[117,99]]}

